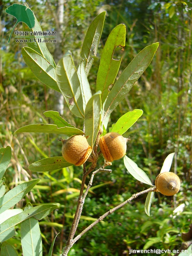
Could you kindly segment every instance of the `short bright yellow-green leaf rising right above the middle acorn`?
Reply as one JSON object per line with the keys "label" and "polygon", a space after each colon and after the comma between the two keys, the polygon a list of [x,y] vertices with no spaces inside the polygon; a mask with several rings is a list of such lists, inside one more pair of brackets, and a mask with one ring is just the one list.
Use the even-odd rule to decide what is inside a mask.
{"label": "short bright yellow-green leaf rising right above the middle acorn", "polygon": [[137,122],[138,118],[142,116],[143,110],[133,110],[124,114],[122,117],[118,119],[116,124],[113,125],[110,132],[117,132],[119,134],[125,133],[135,122]]}

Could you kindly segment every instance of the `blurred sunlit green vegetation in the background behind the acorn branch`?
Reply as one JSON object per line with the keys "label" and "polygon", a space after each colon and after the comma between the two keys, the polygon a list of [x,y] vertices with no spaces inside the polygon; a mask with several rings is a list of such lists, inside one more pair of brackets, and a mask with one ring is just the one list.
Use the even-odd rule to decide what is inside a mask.
{"label": "blurred sunlit green vegetation in the background behind the acorn branch", "polygon": [[[0,147],[10,145],[12,148],[12,160],[6,174],[7,190],[24,180],[41,179],[16,207],[22,208],[29,201],[33,206],[49,202],[59,204],[52,214],[39,222],[44,254],[55,234],[60,232],[53,254],[59,255],[68,238],[82,171],[70,166],[49,174],[31,173],[27,167],[32,162],[61,155],[59,136],[41,133],[14,135],[14,132],[27,124],[50,122],[43,115],[48,110],[60,111],[68,122],[73,123],[74,119],[65,103],[63,106],[59,101],[57,92],[38,81],[25,65],[21,55],[25,44],[15,43],[13,36],[10,44],[7,43],[15,19],[8,16],[5,9],[16,2],[19,3],[2,1],[0,6]],[[72,51],[73,59],[78,60],[90,22],[99,12],[107,11],[100,47],[89,75],[93,91],[102,47],[116,25],[124,23],[127,27],[120,70],[145,46],[160,42],[150,66],[113,112],[110,123],[116,122],[129,110],[142,109],[142,118],[127,133],[132,139],[127,155],[146,171],[151,180],[155,180],[165,157],[175,152],[173,168],[181,178],[181,190],[174,198],[156,193],[150,217],[144,213],[146,196],[134,200],[90,230],[74,245],[69,255],[118,256],[129,255],[129,249],[177,249],[181,244],[181,232],[187,232],[191,223],[192,208],[191,1],[71,0],[64,4],[62,24],[57,15],[58,1],[29,1],[27,4],[44,31],[57,31],[58,43],[47,44],[56,62],[68,49]],[[18,24],[16,30],[22,31],[22,25]],[[117,57],[119,51],[117,49],[115,53]],[[76,118],[75,122],[76,127],[82,127],[80,119]],[[102,163],[100,157],[98,164]],[[146,188],[127,173],[122,160],[114,162],[112,170],[110,175],[99,174],[95,178],[78,232],[89,225],[92,218],[98,218],[117,203]],[[60,190],[64,191],[60,194]],[[177,208],[173,212],[180,205],[182,210]],[[10,243],[20,251],[19,226],[17,234],[18,237],[10,239]]]}

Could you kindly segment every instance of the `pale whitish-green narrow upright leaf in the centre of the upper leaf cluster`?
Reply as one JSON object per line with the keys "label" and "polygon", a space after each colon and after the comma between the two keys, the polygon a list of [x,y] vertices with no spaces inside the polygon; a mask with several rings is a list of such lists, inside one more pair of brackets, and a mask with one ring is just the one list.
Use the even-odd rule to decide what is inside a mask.
{"label": "pale whitish-green narrow upright leaf in the centre of the upper leaf cluster", "polygon": [[81,62],[81,64],[79,65],[77,73],[78,73],[78,77],[79,77],[79,81],[80,81],[80,87],[81,87],[83,110],[85,111],[87,102],[90,100],[92,94],[91,94],[89,81],[87,80],[87,76],[86,76],[86,73],[85,73],[85,68],[84,68],[83,62]]}

